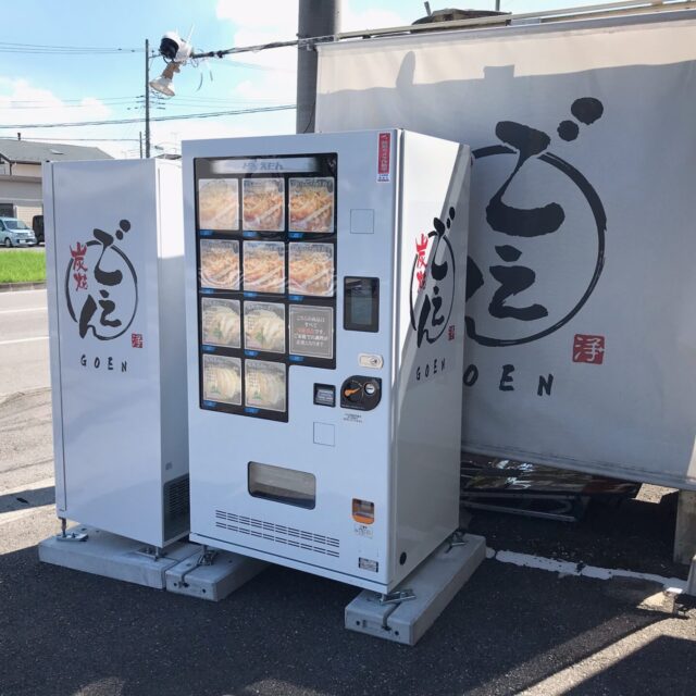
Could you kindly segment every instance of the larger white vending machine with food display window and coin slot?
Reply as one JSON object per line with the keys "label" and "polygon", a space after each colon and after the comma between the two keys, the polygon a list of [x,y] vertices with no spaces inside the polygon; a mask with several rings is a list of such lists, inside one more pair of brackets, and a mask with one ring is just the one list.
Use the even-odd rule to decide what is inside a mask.
{"label": "larger white vending machine with food display window and coin slot", "polygon": [[458,527],[469,148],[183,156],[190,538],[388,592]]}

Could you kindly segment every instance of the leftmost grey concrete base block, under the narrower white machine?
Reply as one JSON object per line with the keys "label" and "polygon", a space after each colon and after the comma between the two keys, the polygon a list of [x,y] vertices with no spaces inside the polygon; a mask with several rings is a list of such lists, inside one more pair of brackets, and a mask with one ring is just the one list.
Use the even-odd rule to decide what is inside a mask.
{"label": "leftmost grey concrete base block, under the narrower white machine", "polygon": [[103,577],[164,589],[165,573],[200,554],[198,544],[175,542],[158,555],[142,542],[78,524],[39,544],[39,560]]}

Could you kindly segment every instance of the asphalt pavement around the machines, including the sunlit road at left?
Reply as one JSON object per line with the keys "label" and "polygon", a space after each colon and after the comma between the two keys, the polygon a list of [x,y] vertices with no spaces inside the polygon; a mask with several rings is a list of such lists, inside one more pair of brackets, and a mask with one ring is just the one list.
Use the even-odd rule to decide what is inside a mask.
{"label": "asphalt pavement around the machines, including the sunlit road at left", "polygon": [[[0,313],[0,696],[694,694],[696,609],[639,579],[489,559],[409,648],[344,629],[355,588],[279,567],[213,604],[39,563],[58,531],[47,355],[2,343],[42,335],[41,303],[0,295],[22,310]],[[644,486],[576,524],[481,512],[470,530],[496,550],[684,579],[674,498]]]}

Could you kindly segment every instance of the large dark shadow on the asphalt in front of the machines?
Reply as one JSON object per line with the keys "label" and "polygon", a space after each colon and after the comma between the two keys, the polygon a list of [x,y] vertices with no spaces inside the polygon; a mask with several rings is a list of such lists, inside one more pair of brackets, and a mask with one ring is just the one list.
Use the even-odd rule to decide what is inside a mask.
{"label": "large dark shadow on the asphalt in front of the machines", "polygon": [[[408,648],[346,631],[357,589],[296,571],[209,604],[46,566],[29,547],[0,556],[0,694],[514,694],[664,619],[610,584],[486,561]],[[682,649],[641,664],[652,685],[694,679]]]}

